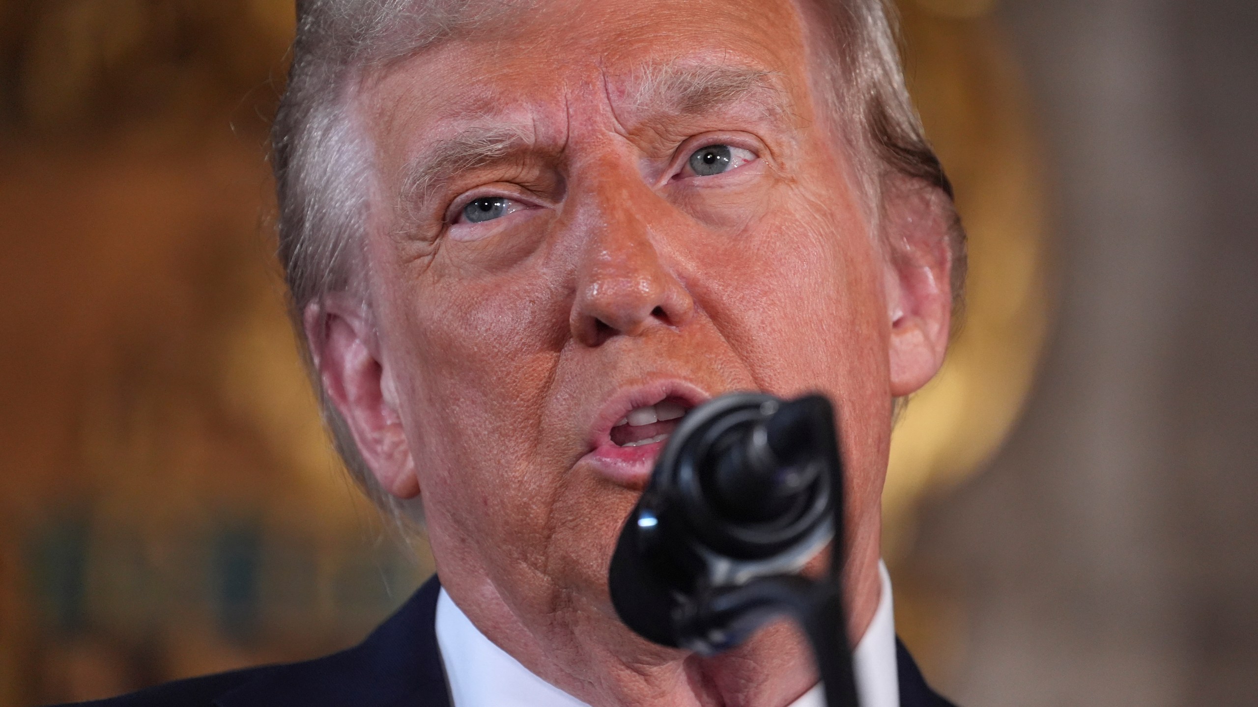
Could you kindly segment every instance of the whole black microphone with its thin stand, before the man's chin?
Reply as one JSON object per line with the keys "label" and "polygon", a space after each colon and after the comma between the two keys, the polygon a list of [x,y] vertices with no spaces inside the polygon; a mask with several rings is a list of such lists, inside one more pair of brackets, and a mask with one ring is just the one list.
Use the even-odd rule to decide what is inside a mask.
{"label": "whole black microphone with its thin stand, before the man's chin", "polygon": [[[608,574],[620,619],[655,643],[728,650],[790,615],[829,707],[855,706],[843,618],[843,469],[829,400],[751,392],[691,410],[625,521]],[[821,580],[798,572],[830,541]]]}

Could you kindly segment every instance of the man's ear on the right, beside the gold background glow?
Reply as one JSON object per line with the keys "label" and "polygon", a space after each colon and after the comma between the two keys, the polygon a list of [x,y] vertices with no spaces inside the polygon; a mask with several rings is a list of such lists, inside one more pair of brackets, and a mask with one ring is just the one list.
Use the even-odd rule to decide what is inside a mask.
{"label": "man's ear on the right, beside the gold background glow", "polygon": [[908,395],[944,365],[952,316],[951,203],[918,182],[892,185],[884,201],[891,394]]}

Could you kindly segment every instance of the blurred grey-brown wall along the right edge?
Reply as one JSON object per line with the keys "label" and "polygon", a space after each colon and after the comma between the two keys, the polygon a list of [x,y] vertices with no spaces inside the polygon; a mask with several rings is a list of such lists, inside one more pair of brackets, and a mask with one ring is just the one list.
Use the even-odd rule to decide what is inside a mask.
{"label": "blurred grey-brown wall along the right edge", "polygon": [[1258,4],[1009,0],[1060,301],[1027,414],[907,565],[961,704],[1258,699]]}

